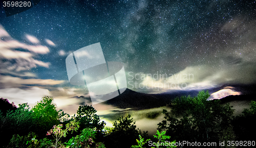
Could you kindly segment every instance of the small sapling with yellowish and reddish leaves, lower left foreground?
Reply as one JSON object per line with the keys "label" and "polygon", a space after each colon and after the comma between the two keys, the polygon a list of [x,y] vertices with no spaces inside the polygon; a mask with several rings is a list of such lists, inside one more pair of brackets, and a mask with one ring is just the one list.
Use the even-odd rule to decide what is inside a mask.
{"label": "small sapling with yellowish and reddish leaves, lower left foreground", "polygon": [[66,137],[68,132],[71,131],[71,133],[73,131],[77,131],[79,128],[79,122],[75,122],[75,121],[71,121],[70,123],[68,123],[66,125],[66,129],[62,129],[63,125],[54,125],[53,128],[47,132],[47,135],[53,135],[53,138],[55,139],[55,144],[53,144],[55,146],[55,148],[57,148],[57,146],[61,145],[60,144],[60,138],[62,137]]}

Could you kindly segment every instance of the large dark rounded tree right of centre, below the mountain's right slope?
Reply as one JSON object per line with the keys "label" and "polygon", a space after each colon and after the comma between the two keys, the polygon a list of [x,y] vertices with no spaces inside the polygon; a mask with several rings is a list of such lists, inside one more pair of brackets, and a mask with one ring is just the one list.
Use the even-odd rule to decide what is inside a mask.
{"label": "large dark rounded tree right of centre, below the mountain's right slope", "polygon": [[[158,124],[176,140],[216,141],[218,133],[231,123],[234,109],[220,100],[207,101],[209,93],[201,91],[197,97],[181,97],[172,102],[172,113],[163,110],[165,120]],[[176,119],[181,117],[181,119]]]}

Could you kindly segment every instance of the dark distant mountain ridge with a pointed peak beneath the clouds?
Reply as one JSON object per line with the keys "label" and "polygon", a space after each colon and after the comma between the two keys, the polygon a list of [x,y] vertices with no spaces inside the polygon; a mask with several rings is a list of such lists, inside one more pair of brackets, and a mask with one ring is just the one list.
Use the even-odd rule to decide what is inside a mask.
{"label": "dark distant mountain ridge with a pointed peak beneath the clouds", "polygon": [[[181,96],[190,96],[195,97],[198,95],[199,91],[170,91],[165,92],[161,94],[145,94],[145,93],[138,93],[132,90],[129,90],[126,88],[126,90],[119,96],[104,101],[97,105],[112,105],[118,108],[131,108],[131,109],[149,109],[149,108],[157,108],[161,106],[167,106],[170,104],[172,100],[175,98],[181,97]],[[81,100],[80,105],[91,105],[91,99],[88,95],[80,96],[80,97],[74,97]],[[221,102],[230,102],[233,100],[247,100],[251,98],[255,98],[255,95],[240,95],[240,96],[227,96],[223,99],[221,99]]]}

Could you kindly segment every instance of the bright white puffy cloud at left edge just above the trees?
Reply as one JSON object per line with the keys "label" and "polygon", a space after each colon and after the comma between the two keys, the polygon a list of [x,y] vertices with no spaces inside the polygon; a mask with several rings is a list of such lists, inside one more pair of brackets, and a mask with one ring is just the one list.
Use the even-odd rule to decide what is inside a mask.
{"label": "bright white puffy cloud at left edge just above the trees", "polygon": [[50,91],[39,87],[31,87],[28,90],[22,90],[20,88],[4,88],[0,90],[0,97],[14,102],[16,106],[22,103],[28,103],[30,106],[34,106],[44,96],[51,96]]}

